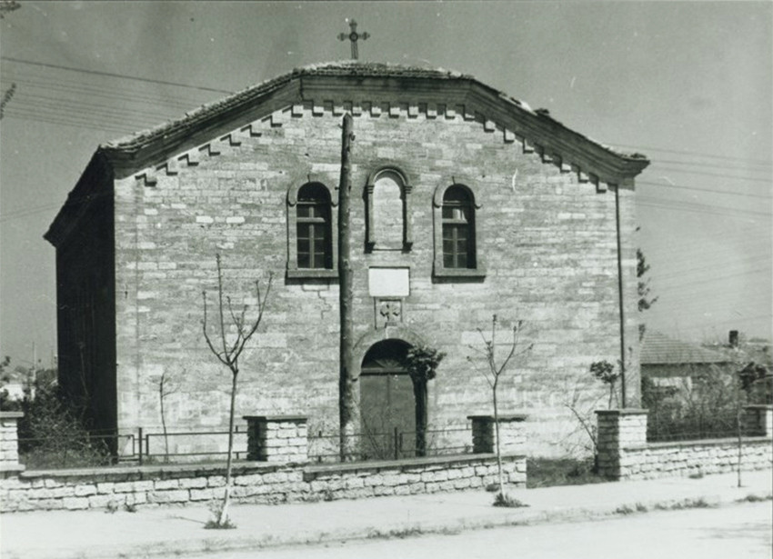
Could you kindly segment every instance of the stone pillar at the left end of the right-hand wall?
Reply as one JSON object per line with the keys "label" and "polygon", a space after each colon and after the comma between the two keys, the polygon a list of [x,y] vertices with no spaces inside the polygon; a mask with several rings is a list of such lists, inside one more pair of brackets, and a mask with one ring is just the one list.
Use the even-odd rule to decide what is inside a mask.
{"label": "stone pillar at the left end of the right-hand wall", "polygon": [[598,474],[620,479],[630,474],[625,449],[647,444],[647,410],[597,410]]}

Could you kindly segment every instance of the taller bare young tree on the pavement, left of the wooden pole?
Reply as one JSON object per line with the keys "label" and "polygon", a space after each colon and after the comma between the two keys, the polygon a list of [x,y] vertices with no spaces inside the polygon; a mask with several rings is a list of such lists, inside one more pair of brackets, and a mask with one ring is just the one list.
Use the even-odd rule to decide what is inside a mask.
{"label": "taller bare young tree on the pavement, left of the wooden pole", "polygon": [[[217,322],[215,324],[216,340],[213,342],[210,334],[207,332],[207,316],[206,316],[206,290],[202,291],[202,299],[204,300],[204,320],[202,321],[202,329],[204,331],[204,338],[210,351],[217,357],[220,363],[226,365],[231,372],[231,406],[230,413],[228,414],[228,457],[226,460],[226,494],[223,498],[223,505],[220,507],[220,512],[214,523],[214,527],[225,528],[231,524],[228,521],[228,503],[231,495],[231,463],[234,451],[234,411],[236,407],[236,381],[239,376],[239,356],[245,349],[246,343],[250,340],[253,334],[256,333],[257,327],[260,325],[260,321],[263,319],[263,312],[266,310],[266,301],[268,295],[271,293],[271,281],[273,275],[268,275],[268,284],[266,286],[266,294],[261,294],[260,283],[255,282],[255,289],[257,295],[257,316],[249,322],[246,317],[247,305],[242,307],[240,313],[234,312],[234,306],[231,304],[231,297],[226,296],[226,301],[223,301],[223,267],[220,262],[220,255],[216,255],[217,261]],[[226,312],[229,315],[231,324],[229,328],[226,328]],[[217,339],[219,338],[219,339]]]}

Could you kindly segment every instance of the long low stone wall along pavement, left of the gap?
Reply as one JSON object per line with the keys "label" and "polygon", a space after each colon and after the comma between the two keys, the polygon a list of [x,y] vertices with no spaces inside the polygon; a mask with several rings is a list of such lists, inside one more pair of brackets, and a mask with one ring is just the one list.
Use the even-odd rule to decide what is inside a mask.
{"label": "long low stone wall along pavement, left of the gap", "polygon": [[[507,482],[526,484],[526,456],[503,455]],[[294,465],[235,464],[236,503],[276,504],[428,494],[496,483],[494,454],[394,462]],[[225,468],[162,465],[23,472],[0,479],[0,512],[141,508],[222,498]]]}

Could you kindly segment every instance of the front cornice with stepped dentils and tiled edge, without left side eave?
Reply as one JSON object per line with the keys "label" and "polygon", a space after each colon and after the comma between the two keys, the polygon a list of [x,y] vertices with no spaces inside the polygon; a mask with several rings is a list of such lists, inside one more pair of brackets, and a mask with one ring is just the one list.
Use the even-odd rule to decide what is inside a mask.
{"label": "front cornice with stepped dentils and tiled edge, without left side eave", "polygon": [[[251,123],[261,119],[277,126],[306,113],[344,112],[374,118],[424,115],[476,120],[487,133],[501,134],[505,143],[539,145],[543,160],[557,159],[565,172],[574,166],[607,183],[635,176],[649,163],[643,156],[620,154],[577,134],[547,111],[535,112],[469,75],[370,64],[301,68],[100,149],[116,175],[132,175],[148,165],[160,165],[170,155],[206,145],[213,137],[227,136],[223,139],[237,145],[238,136],[253,134]],[[525,146],[525,151],[529,149]]]}

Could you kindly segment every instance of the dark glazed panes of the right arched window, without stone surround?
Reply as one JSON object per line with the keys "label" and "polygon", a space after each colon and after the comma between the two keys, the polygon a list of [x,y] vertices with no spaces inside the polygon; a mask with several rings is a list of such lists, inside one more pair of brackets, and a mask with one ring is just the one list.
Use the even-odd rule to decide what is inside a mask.
{"label": "dark glazed panes of the right arched window, without stone surround", "polygon": [[443,195],[443,267],[476,267],[475,212],[467,188],[453,185]]}

